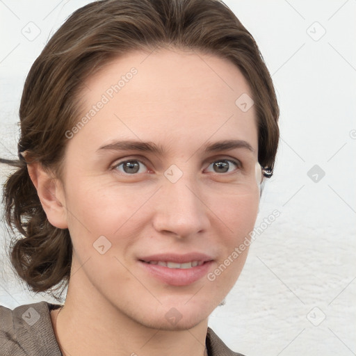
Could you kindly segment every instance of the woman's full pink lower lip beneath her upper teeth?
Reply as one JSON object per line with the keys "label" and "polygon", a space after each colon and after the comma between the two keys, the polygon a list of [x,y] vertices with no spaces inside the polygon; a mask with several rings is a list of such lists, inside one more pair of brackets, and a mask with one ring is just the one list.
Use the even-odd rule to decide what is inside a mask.
{"label": "woman's full pink lower lip beneath her upper teeth", "polygon": [[169,268],[158,264],[147,264],[138,261],[147,272],[156,277],[161,282],[171,286],[187,286],[207,275],[213,261],[206,261],[201,266],[192,268]]}

